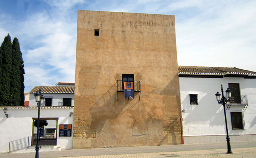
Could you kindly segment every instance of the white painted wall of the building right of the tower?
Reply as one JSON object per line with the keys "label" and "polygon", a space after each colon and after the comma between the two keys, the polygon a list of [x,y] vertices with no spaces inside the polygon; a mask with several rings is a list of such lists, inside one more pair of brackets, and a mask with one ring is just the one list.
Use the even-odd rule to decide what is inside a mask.
{"label": "white painted wall of the building right of the tower", "polygon": [[[244,106],[231,106],[226,110],[229,135],[256,134],[256,79],[179,77],[179,82],[181,110],[184,109],[182,112],[184,137],[226,135],[223,106],[218,104],[215,94],[217,91],[221,93],[222,84],[226,95],[225,90],[229,83],[239,83],[241,96],[248,98],[246,110]],[[189,94],[198,94],[198,105],[190,105]],[[244,112],[244,130],[232,130],[230,115],[232,111]],[[184,143],[187,144],[185,141]]]}

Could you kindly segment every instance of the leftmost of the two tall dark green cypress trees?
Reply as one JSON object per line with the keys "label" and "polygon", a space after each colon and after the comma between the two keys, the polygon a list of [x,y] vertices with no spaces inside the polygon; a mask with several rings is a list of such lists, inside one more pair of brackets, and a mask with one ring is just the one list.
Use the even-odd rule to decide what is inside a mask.
{"label": "leftmost of the two tall dark green cypress trees", "polygon": [[11,88],[11,70],[12,70],[12,42],[8,34],[5,36],[0,47],[2,58],[2,70],[0,80],[0,106],[10,106],[12,104]]}

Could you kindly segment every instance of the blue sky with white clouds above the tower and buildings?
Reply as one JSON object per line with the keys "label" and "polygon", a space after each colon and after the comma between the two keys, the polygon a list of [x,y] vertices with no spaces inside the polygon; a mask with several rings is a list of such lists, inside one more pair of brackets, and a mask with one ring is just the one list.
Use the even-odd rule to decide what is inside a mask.
{"label": "blue sky with white clouds above the tower and buildings", "polygon": [[256,71],[255,0],[0,0],[0,42],[17,37],[24,93],[75,82],[78,10],[175,15],[178,65]]}

